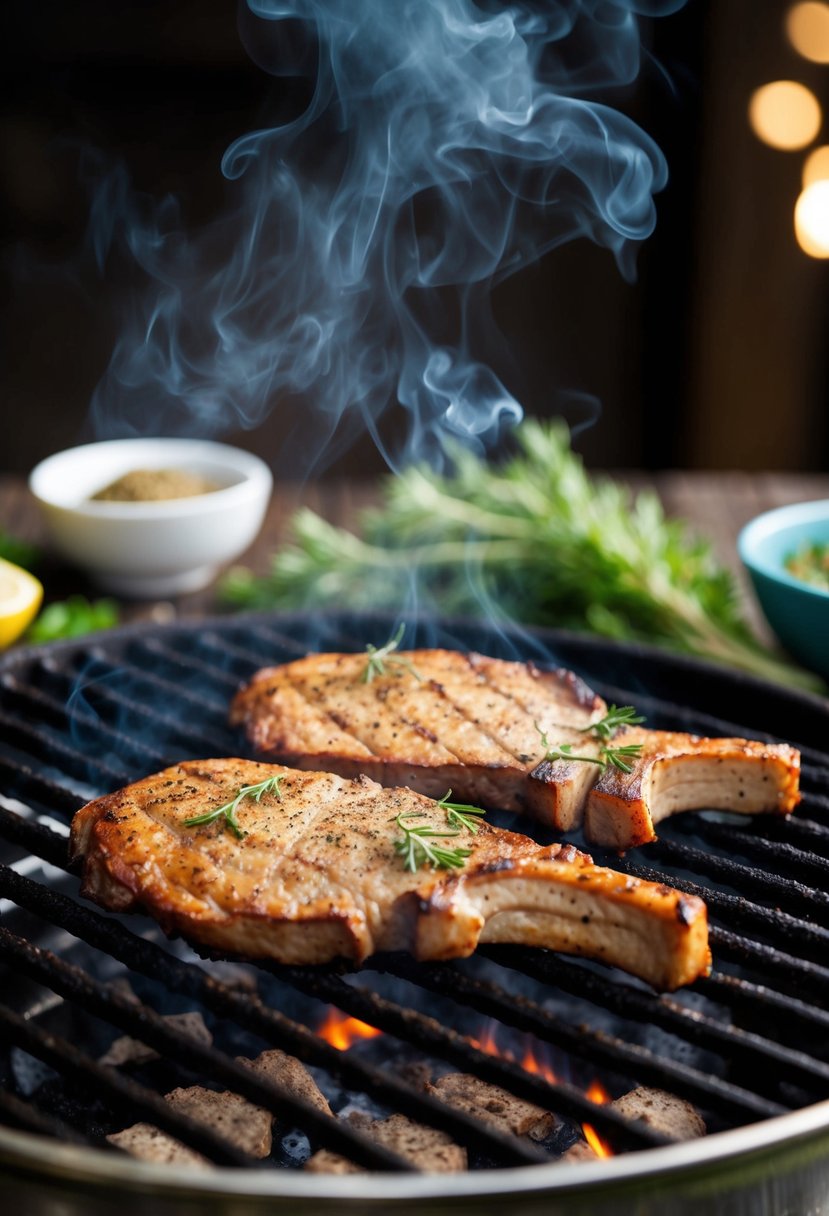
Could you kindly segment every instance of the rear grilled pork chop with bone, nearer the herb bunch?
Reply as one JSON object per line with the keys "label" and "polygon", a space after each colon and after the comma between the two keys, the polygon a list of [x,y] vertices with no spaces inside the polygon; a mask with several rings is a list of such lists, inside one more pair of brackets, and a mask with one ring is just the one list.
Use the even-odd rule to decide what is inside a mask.
{"label": "rear grilled pork chop with bone, nearer the herb bunch", "polygon": [[[799,801],[800,758],[785,744],[620,733],[620,770],[592,764],[607,705],[571,672],[456,651],[408,651],[366,681],[366,654],[312,654],[259,671],[231,706],[263,755],[299,769],[359,773],[434,798],[526,811],[625,849],[675,811],[778,811]],[[607,741],[605,741],[607,742]],[[547,759],[564,745],[582,759]],[[598,784],[597,784],[598,783]],[[596,795],[591,794],[596,784]],[[588,794],[591,795],[588,798]],[[593,834],[592,834],[593,833]]]}

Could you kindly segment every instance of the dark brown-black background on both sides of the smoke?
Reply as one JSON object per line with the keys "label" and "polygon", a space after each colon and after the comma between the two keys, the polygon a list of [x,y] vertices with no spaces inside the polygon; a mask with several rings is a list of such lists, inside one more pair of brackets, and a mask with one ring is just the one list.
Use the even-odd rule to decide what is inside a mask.
{"label": "dark brown-black background on both sides of the smoke", "polygon": [[[614,101],[660,145],[671,179],[635,285],[582,240],[495,292],[506,348],[494,364],[526,411],[579,422],[593,415],[579,394],[600,401],[579,437],[592,465],[827,465],[829,263],[800,252],[791,224],[805,153],[766,147],[746,122],[772,79],[829,101],[829,67],[789,46],[785,7],[688,0],[645,23],[641,80]],[[196,226],[222,208],[226,146],[291,112],[303,86],[252,63],[229,0],[7,0],[2,19],[0,471],[24,473],[89,438],[131,286],[78,260],[81,150],[123,158],[140,190],[177,195]],[[284,413],[229,438],[278,471]],[[382,467],[365,440],[332,468]]]}

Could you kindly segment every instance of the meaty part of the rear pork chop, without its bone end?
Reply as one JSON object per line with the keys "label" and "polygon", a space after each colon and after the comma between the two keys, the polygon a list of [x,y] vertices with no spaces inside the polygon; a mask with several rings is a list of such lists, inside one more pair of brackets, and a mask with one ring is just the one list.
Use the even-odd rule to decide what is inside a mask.
{"label": "meaty part of the rear pork chop, without its bone end", "polygon": [[605,713],[600,697],[571,672],[531,663],[456,651],[402,657],[419,680],[395,666],[366,683],[361,654],[266,669],[237,694],[231,720],[258,751],[299,769],[366,773],[432,798],[451,787],[461,800],[531,810],[559,828],[580,818],[593,766],[551,773],[540,732],[598,754],[581,731]]}

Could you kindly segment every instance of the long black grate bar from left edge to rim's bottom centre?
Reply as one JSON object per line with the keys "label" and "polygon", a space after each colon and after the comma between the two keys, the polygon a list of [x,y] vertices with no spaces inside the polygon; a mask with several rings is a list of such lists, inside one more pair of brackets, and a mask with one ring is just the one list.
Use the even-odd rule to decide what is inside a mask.
{"label": "long black grate bar from left edge to rim's bottom centre", "polygon": [[125,996],[109,984],[91,979],[79,967],[63,962],[51,951],[39,950],[22,938],[0,928],[0,958],[36,983],[51,989],[88,1013],[118,1026],[134,1038],[154,1047],[159,1054],[214,1081],[224,1082],[235,1093],[265,1107],[280,1116],[289,1116],[312,1133],[327,1148],[350,1156],[368,1169],[411,1170],[395,1153],[355,1132],[346,1122],[332,1120],[316,1107],[283,1090],[243,1064],[205,1046],[192,1035],[170,1025],[146,1004]]}

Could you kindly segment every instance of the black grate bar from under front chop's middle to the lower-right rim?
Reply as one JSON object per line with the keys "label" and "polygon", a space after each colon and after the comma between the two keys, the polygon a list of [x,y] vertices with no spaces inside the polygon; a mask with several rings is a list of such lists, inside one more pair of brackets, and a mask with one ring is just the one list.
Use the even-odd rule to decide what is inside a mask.
{"label": "black grate bar from under front chop's middle to the lower-right rim", "polygon": [[[706,1075],[688,1065],[660,1058],[644,1047],[627,1043],[604,1031],[590,1030],[586,1026],[569,1026],[535,1002],[514,993],[507,993],[494,984],[463,975],[453,968],[414,967],[396,958],[389,968],[387,968],[384,959],[377,961],[374,966],[378,970],[390,969],[393,975],[408,979],[432,992],[463,1000],[479,1013],[486,1013],[506,1025],[535,1035],[545,1042],[554,1043],[571,1055],[596,1062],[616,1073],[636,1076],[642,1082],[670,1090],[671,1093],[688,1098],[709,1110],[724,1113],[738,1121],[744,1120],[746,1114],[768,1118],[786,1109],[778,1102],[757,1097],[757,1094],[739,1086],[721,1081],[718,1077]],[[507,966],[512,966],[512,962]],[[523,967],[518,969],[524,972]],[[531,969],[524,973],[535,978],[535,972]],[[577,984],[575,990],[579,991]],[[737,1048],[748,1046],[741,1043],[740,1036],[734,1037]],[[769,1048],[772,1046],[768,1045]],[[766,1065],[773,1063],[786,1066],[788,1064],[790,1079],[796,1076],[801,1083],[806,1082],[810,1087],[813,1087],[817,1080],[816,1070],[818,1070],[819,1080],[823,1082],[825,1092],[829,1093],[829,1066],[806,1055],[785,1052],[785,1049],[782,1049],[780,1055],[784,1058],[776,1058],[771,1051],[758,1048],[755,1058],[763,1060]],[[789,1059],[786,1060],[785,1057]],[[763,1077],[763,1080],[767,1079]]]}

